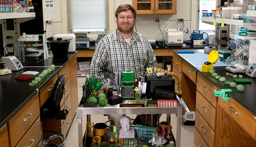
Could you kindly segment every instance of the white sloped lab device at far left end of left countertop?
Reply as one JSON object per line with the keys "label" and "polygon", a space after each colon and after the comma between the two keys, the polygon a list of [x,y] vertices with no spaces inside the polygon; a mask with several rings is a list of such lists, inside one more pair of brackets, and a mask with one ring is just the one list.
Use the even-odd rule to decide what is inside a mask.
{"label": "white sloped lab device at far left end of left countertop", "polygon": [[19,71],[23,69],[23,65],[15,56],[2,57],[1,62],[6,64],[12,71]]}

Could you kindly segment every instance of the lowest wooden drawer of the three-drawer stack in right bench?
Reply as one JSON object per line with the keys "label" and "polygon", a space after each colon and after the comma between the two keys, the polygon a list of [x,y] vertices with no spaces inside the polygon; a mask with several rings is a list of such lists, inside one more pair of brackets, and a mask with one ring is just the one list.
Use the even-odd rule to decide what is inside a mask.
{"label": "lowest wooden drawer of the three-drawer stack in right bench", "polygon": [[197,128],[198,132],[204,138],[206,143],[209,147],[214,147],[214,135],[215,132],[209,126],[209,124],[204,120],[203,116],[195,110],[195,127]]}

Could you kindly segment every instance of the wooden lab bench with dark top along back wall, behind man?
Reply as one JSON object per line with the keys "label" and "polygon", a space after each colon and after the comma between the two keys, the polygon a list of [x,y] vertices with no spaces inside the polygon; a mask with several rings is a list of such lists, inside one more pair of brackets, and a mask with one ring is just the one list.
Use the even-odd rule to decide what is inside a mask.
{"label": "wooden lab bench with dark top along back wall, behind man", "polygon": [[[181,46],[167,46],[159,47],[158,44],[155,47],[152,47],[154,50],[154,53],[156,56],[172,56],[172,49],[177,50],[184,50],[184,49],[204,49],[205,46],[208,45],[202,45],[202,46],[191,46],[189,44],[186,44],[186,47]],[[77,48],[76,51],[78,51],[77,57],[93,57],[93,53],[95,50],[95,45],[90,43],[90,48]]]}

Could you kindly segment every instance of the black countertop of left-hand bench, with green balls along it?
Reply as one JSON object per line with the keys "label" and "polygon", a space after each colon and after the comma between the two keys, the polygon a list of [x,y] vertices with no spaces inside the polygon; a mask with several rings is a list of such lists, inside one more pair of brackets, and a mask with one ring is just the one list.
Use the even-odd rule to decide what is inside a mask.
{"label": "black countertop of left-hand bench, with green balls along it", "polygon": [[[67,59],[56,60],[52,57],[44,60],[44,64],[38,67],[24,67],[20,71],[12,71],[11,74],[0,76],[0,127],[8,122],[44,85],[55,76],[69,60],[77,54],[68,53]],[[55,65],[54,71],[38,82],[35,87],[30,87],[29,83],[38,76],[31,76],[33,79],[28,81],[16,81],[15,77],[22,76],[25,71],[38,71],[41,73],[50,65]],[[29,76],[29,75],[26,75]],[[38,89],[38,90],[37,90]]]}

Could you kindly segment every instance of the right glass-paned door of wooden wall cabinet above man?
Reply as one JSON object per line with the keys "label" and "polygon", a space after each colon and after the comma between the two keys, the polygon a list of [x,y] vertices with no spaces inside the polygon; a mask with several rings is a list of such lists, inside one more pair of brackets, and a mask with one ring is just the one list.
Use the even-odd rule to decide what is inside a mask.
{"label": "right glass-paned door of wooden wall cabinet above man", "polygon": [[155,14],[176,14],[176,0],[155,0]]}

